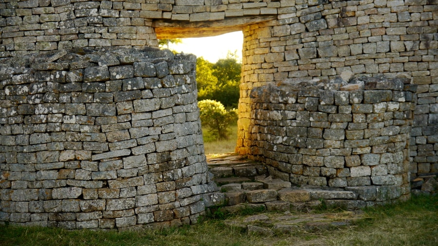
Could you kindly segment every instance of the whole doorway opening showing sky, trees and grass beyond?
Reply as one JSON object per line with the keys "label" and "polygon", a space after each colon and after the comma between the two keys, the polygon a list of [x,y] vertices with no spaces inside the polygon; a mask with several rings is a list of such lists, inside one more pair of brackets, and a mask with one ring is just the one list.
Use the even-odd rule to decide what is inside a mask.
{"label": "whole doorway opening showing sky, trees and grass beyond", "polygon": [[197,56],[196,81],[205,154],[234,153],[243,33],[162,40],[161,48]]}

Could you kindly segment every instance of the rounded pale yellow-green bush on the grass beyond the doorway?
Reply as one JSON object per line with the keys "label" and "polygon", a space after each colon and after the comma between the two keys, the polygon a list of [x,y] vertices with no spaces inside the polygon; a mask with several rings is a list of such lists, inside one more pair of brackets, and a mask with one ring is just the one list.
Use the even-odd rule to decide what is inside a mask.
{"label": "rounded pale yellow-green bush on the grass beyond the doorway", "polygon": [[225,107],[217,101],[202,100],[198,102],[201,123],[208,126],[211,135],[217,139],[227,139],[229,126],[237,120],[237,110],[227,111]]}

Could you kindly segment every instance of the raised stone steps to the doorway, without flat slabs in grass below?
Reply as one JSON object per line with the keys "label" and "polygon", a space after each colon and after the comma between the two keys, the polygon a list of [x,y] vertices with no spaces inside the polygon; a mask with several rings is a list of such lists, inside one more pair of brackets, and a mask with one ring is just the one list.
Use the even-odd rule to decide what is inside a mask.
{"label": "raised stone steps to the doorway, without flat slabs in grass below", "polygon": [[236,154],[207,156],[210,172],[225,197],[225,210],[237,211],[247,207],[268,211],[310,210],[321,206],[347,210],[364,208],[365,201],[357,200],[358,193],[339,188],[303,185],[269,176],[266,167]]}

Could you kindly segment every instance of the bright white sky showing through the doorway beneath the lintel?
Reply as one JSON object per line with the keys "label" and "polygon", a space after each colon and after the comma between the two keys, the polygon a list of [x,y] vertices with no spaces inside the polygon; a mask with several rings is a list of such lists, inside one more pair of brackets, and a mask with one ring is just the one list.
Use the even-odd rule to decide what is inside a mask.
{"label": "bright white sky showing through the doorway beneath the lintel", "polygon": [[236,50],[238,59],[241,60],[242,46],[242,32],[234,32],[213,37],[183,38],[183,43],[169,44],[169,49],[179,53],[192,53],[216,63],[219,59],[226,58],[228,51]]}

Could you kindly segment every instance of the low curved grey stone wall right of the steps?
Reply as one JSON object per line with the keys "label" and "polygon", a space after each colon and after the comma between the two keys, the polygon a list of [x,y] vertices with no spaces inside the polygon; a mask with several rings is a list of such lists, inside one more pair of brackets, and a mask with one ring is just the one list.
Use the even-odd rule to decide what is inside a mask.
{"label": "low curved grey stone wall right of the steps", "polygon": [[409,82],[362,77],[258,87],[251,94],[250,157],[295,184],[386,189],[388,200],[406,198],[416,100]]}

